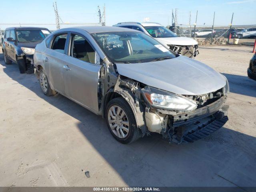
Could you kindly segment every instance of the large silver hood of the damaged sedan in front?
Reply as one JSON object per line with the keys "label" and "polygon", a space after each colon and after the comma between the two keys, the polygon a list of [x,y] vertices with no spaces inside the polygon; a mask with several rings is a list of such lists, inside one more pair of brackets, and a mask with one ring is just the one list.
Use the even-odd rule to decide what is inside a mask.
{"label": "large silver hood of the damaged sedan in front", "polygon": [[147,63],[119,63],[116,67],[122,76],[182,95],[206,94],[226,85],[222,74],[185,56]]}

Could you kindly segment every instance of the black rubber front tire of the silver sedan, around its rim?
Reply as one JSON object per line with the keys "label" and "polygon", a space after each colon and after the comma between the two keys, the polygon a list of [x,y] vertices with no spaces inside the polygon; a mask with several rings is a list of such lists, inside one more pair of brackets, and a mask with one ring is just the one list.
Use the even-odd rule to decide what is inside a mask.
{"label": "black rubber front tire of the silver sedan, around its rim", "polygon": [[[117,113],[118,107],[121,109],[119,114]],[[113,109],[115,112],[113,112]],[[122,117],[123,112],[125,115]],[[112,117],[111,113],[113,116],[115,116],[114,113],[116,114],[116,119]],[[112,136],[122,144],[132,143],[142,137],[142,132],[136,123],[135,114],[128,102],[122,97],[114,98],[108,102],[106,107],[106,122]],[[121,126],[122,128],[120,128]],[[125,136],[122,135],[122,133],[125,134]]]}

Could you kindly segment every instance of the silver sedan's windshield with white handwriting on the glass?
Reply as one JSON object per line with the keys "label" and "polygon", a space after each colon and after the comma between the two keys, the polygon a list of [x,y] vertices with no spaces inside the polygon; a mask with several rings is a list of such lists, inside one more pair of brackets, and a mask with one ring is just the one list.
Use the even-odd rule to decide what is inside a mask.
{"label": "silver sedan's windshield with white handwriting on the glass", "polygon": [[106,32],[92,36],[112,63],[141,63],[176,57],[144,33]]}

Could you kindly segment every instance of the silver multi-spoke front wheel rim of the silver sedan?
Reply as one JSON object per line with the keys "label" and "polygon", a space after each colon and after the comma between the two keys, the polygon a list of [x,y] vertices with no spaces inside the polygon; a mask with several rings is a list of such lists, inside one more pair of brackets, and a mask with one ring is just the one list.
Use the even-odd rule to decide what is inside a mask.
{"label": "silver multi-spoke front wheel rim of the silver sedan", "polygon": [[113,105],[108,110],[108,124],[112,132],[118,138],[126,138],[129,133],[129,120],[124,110],[117,105]]}

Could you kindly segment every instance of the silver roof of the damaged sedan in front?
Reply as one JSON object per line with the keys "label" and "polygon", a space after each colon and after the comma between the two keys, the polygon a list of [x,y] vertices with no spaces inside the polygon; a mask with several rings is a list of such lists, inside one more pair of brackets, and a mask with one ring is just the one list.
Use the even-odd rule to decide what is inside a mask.
{"label": "silver roof of the damaged sedan in front", "polygon": [[56,30],[54,32],[62,32],[62,31],[72,31],[74,29],[81,29],[88,33],[101,33],[101,32],[139,32],[138,30],[121,28],[121,27],[111,27],[111,26],[79,26],[72,28],[62,28],[60,30]]}

